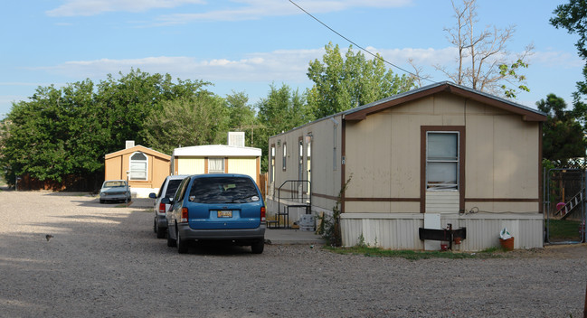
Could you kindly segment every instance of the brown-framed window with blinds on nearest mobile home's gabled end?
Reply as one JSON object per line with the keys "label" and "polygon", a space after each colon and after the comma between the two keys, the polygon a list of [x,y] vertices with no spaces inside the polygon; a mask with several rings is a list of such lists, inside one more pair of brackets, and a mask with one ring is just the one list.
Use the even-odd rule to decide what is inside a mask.
{"label": "brown-framed window with blinds on nearest mobile home's gabled end", "polygon": [[426,188],[459,190],[459,133],[426,135]]}

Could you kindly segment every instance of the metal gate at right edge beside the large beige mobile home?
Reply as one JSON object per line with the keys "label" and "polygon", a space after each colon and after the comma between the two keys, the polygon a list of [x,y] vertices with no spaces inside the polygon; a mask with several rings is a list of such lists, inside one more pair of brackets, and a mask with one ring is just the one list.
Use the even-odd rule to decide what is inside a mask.
{"label": "metal gate at right edge beside the large beige mobile home", "polygon": [[544,169],[544,242],[585,242],[587,197],[582,169]]}

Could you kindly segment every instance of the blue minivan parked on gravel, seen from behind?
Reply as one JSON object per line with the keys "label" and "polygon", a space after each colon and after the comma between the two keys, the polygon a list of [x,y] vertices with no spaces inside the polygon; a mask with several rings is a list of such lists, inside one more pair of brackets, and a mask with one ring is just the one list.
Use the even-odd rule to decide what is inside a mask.
{"label": "blue minivan parked on gravel, seen from behind", "polygon": [[177,247],[179,253],[186,253],[189,243],[205,240],[230,241],[251,246],[254,254],[263,252],[265,203],[250,176],[218,173],[186,177],[170,203],[167,246]]}

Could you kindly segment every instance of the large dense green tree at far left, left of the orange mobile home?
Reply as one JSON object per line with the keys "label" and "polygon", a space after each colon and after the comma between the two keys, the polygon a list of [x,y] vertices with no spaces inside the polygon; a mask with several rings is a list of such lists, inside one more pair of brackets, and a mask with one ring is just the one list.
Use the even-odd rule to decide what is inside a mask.
{"label": "large dense green tree at far left, left of the orange mobile home", "polygon": [[100,125],[101,116],[89,79],[63,89],[36,89],[30,101],[14,104],[5,118],[0,162],[6,179],[29,174],[61,182],[71,174],[102,174],[100,147],[109,134]]}

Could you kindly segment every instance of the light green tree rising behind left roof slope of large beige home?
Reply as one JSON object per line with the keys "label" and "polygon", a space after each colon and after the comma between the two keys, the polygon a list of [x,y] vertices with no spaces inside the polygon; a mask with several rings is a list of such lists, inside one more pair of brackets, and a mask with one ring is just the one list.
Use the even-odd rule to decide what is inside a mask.
{"label": "light green tree rising behind left roof slope of large beige home", "polygon": [[308,78],[314,82],[308,90],[308,104],[315,117],[327,117],[414,87],[412,78],[387,70],[378,54],[369,61],[351,46],[343,57],[332,42],[325,50],[323,61],[310,61],[308,67]]}

